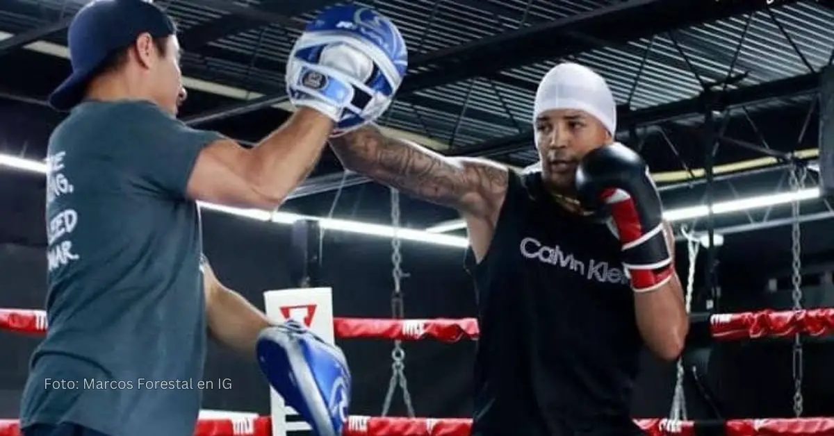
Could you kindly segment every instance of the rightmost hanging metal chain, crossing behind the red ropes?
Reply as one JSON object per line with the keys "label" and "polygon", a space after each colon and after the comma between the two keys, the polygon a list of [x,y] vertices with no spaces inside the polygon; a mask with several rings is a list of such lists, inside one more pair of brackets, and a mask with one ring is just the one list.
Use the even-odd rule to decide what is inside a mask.
{"label": "rightmost hanging metal chain, crossing behind the red ropes", "polygon": [[[794,165],[791,168],[791,191],[797,192],[805,188],[806,168],[801,165]],[[802,275],[801,275],[801,233],[799,226],[799,200],[791,203],[791,254],[793,256],[791,267],[791,284],[793,290],[791,298],[793,299],[793,309],[801,310],[802,308]],[[801,335],[796,333],[793,337],[793,413],[796,417],[802,415],[802,369],[804,366],[802,356],[802,342]]]}

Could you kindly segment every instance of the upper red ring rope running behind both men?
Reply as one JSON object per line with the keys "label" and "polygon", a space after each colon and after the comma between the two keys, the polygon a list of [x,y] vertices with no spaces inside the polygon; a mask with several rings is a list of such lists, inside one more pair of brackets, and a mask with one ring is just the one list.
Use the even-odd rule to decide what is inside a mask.
{"label": "upper red ring rope running behind both men", "polygon": [[[46,313],[32,309],[0,309],[0,329],[19,333],[43,333]],[[720,313],[711,315],[710,332],[717,339],[785,337],[796,333],[821,336],[834,331],[834,308],[809,310]],[[434,338],[457,342],[478,338],[478,321],[460,319],[334,318],[337,338]]]}

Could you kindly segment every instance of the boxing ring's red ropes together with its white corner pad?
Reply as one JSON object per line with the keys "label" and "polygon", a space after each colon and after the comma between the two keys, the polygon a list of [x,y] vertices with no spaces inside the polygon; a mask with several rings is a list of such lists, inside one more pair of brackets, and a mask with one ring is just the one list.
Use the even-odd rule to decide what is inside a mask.
{"label": "boxing ring's red ropes together with its white corner pad", "polygon": [[[294,318],[305,323],[324,340],[334,343],[356,338],[392,341],[431,340],[455,343],[478,338],[475,318],[392,319],[338,318],[333,316],[331,288],[292,288],[264,293],[267,315],[276,322]],[[26,334],[43,334],[46,313],[33,309],[0,309],[0,329]],[[694,328],[705,328],[717,341],[758,338],[787,338],[796,334],[821,336],[834,331],[834,308],[746,313],[717,313],[694,316]],[[700,325],[699,325],[700,324]],[[264,386],[268,386],[264,383]],[[287,436],[309,430],[304,423],[288,422],[294,411],[284,407],[271,392],[270,416],[254,413],[212,413],[203,411],[195,436]],[[750,418],[691,421],[675,418],[636,419],[652,436],[726,434],[753,436],[784,434],[834,435],[834,418]],[[403,418],[349,416],[344,436],[465,436],[468,418]],[[18,436],[18,421],[0,420],[0,436]]]}

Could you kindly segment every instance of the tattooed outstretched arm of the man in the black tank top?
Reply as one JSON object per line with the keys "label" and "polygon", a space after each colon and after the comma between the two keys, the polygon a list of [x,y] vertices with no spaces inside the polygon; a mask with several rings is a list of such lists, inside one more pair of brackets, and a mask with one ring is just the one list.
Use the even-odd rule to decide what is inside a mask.
{"label": "tattooed outstretched arm of the man in the black tank top", "polygon": [[416,198],[479,213],[504,195],[507,169],[479,159],[447,158],[361,128],[331,142],[346,168]]}

